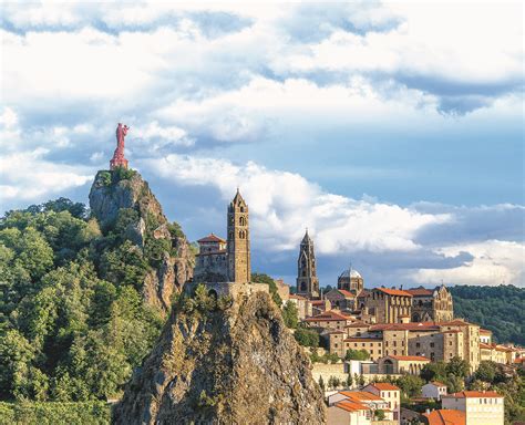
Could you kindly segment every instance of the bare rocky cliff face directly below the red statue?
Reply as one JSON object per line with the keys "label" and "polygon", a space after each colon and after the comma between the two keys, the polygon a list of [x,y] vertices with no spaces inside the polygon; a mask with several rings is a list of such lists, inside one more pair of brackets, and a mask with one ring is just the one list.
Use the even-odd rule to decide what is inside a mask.
{"label": "bare rocky cliff face directly below the red statue", "polygon": [[168,311],[172,294],[179,292],[193,277],[194,256],[182,231],[169,230],[171,225],[147,182],[132,170],[101,170],[91,187],[90,208],[104,230],[111,230],[125,211],[132,218],[126,221],[123,235],[143,251],[150,241],[166,242],[158,266],[145,276],[143,297],[151,305]]}

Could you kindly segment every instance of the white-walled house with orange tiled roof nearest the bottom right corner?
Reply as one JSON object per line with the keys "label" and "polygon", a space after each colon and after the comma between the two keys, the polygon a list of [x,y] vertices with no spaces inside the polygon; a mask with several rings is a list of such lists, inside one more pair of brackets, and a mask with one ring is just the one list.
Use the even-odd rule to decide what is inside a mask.
{"label": "white-walled house with orange tiled roof nearest the bottom right corner", "polygon": [[465,425],[503,425],[503,395],[495,391],[462,391],[443,395],[443,408],[461,411],[466,415]]}

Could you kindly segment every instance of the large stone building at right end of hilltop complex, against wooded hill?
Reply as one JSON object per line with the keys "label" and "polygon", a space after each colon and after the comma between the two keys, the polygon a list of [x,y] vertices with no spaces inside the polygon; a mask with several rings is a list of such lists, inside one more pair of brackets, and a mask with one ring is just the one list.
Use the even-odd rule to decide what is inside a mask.
{"label": "large stone building at right end of hilltop complex, against wooded hill", "polygon": [[445,286],[408,289],[412,294],[412,322],[447,322],[454,318],[452,294]]}

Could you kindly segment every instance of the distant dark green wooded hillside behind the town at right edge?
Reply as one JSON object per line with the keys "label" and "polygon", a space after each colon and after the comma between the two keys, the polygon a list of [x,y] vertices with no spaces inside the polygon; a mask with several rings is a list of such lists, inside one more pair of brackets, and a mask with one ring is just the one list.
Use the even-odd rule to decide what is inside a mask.
{"label": "distant dark green wooded hillside behind the town at right edge", "polygon": [[525,345],[525,289],[500,287],[451,287],[454,315],[481,324],[493,332],[495,342]]}

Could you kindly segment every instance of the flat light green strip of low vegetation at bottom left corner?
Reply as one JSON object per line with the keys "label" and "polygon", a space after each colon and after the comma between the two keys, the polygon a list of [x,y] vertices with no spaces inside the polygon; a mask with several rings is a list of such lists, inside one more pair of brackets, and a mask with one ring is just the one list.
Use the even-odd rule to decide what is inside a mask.
{"label": "flat light green strip of low vegetation at bottom left corner", "polygon": [[4,403],[0,402],[0,424],[70,425],[109,424],[111,408],[104,402]]}

